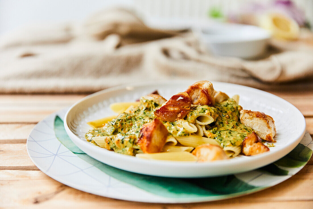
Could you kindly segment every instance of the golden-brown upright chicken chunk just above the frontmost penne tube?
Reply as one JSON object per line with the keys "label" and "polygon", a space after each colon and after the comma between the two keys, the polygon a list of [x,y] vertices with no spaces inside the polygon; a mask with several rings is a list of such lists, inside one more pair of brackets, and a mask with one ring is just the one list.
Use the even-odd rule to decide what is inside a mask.
{"label": "golden-brown upright chicken chunk just above the frontmost penne tube", "polygon": [[144,153],[159,153],[166,142],[168,131],[161,121],[154,119],[140,129],[137,144]]}

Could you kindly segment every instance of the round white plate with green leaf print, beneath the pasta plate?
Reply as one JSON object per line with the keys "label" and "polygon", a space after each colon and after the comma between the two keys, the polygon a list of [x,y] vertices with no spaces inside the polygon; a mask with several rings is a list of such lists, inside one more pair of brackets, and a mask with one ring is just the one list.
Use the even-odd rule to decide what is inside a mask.
{"label": "round white plate with green leaf print, beneath the pasta plate", "polygon": [[167,178],[131,173],[91,158],[70,140],[63,119],[67,109],[40,121],[27,139],[35,165],[51,178],[92,194],[159,203],[227,199],[263,190],[296,174],[309,161],[313,142],[305,133],[285,157],[262,168],[211,178]]}

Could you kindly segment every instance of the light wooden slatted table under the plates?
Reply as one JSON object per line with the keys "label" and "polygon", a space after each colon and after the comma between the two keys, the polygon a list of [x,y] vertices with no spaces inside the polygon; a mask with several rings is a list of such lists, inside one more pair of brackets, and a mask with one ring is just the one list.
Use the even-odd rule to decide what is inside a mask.
{"label": "light wooden slatted table under the plates", "polygon": [[[313,89],[272,91],[295,105],[313,136]],[[63,185],[40,171],[26,151],[36,123],[85,94],[0,95],[0,207],[75,208],[313,208],[313,158],[290,179],[254,194],[192,204],[149,204],[92,195]],[[287,114],[287,113],[286,113]]]}

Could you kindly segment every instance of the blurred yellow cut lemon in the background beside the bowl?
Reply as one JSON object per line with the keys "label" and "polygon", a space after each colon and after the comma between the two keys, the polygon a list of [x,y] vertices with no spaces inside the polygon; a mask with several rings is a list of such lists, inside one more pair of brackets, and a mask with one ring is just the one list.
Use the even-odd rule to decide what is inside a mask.
{"label": "blurred yellow cut lemon in the background beside the bowl", "polygon": [[260,26],[272,32],[277,39],[295,40],[299,37],[299,25],[290,17],[269,13],[260,17]]}

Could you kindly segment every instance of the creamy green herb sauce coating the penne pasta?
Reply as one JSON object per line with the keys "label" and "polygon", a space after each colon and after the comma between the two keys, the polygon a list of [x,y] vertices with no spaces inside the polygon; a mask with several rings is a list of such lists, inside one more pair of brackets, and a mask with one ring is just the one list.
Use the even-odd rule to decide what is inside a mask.
{"label": "creamy green herb sauce coating the penne pasta", "polygon": [[[160,106],[153,100],[144,98],[141,98],[140,102],[141,105],[118,115],[103,127],[88,131],[85,135],[86,140],[96,144],[92,140],[93,137],[106,137],[105,148],[117,153],[136,155],[140,151],[140,147],[137,145],[140,129],[143,124],[151,122],[155,118],[153,112]],[[190,133],[183,127],[185,121],[194,123],[199,114],[211,115],[215,122],[206,126],[208,137],[216,139],[222,147],[239,146],[244,138],[252,133],[250,127],[239,122],[239,108],[240,106],[233,99],[217,103],[214,107],[192,106],[184,119],[174,122],[163,121],[163,124],[169,135],[188,136]]]}

